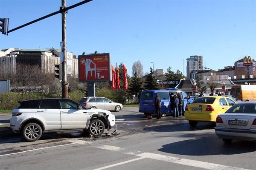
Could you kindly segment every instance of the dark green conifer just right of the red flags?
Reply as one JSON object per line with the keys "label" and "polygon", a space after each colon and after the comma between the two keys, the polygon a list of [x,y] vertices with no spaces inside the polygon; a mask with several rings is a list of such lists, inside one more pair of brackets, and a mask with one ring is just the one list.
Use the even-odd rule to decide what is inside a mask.
{"label": "dark green conifer just right of the red flags", "polygon": [[143,90],[142,83],[141,78],[138,77],[137,72],[135,72],[134,76],[131,77],[131,84],[129,85],[128,93],[131,95],[135,94],[137,99],[137,95]]}

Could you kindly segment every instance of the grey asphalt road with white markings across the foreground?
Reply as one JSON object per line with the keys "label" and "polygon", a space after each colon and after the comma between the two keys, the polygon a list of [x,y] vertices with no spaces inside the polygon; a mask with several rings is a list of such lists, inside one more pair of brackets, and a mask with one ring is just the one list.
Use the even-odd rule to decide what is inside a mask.
{"label": "grey asphalt road with white markings across the foreground", "polygon": [[256,169],[255,142],[225,144],[213,123],[190,127],[183,118],[146,119],[137,108],[115,113],[117,136],[49,133],[36,142],[1,139],[5,170],[244,170]]}

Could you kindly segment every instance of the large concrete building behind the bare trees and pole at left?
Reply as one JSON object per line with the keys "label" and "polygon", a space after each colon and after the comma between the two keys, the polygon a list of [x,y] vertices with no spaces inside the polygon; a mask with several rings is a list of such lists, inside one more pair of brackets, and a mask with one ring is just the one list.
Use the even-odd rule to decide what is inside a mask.
{"label": "large concrete building behind the bare trees and pole at left", "polygon": [[[7,51],[7,50],[4,50]],[[61,50],[50,48],[10,50],[0,57],[2,74],[15,74],[17,65],[38,65],[44,74],[55,74],[55,64],[61,63]],[[67,52],[67,74],[78,76],[78,59],[73,53]]]}

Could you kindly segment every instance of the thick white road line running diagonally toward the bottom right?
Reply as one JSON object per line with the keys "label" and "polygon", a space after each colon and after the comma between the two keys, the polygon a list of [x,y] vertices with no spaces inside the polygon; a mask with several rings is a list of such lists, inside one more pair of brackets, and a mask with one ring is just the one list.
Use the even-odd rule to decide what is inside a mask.
{"label": "thick white road line running diagonally toward the bottom right", "polygon": [[[115,147],[115,146],[110,146],[110,145],[102,145],[97,148],[111,150],[111,151],[121,151],[125,154],[129,154],[129,155],[133,155],[133,156],[140,156],[142,158],[150,158],[150,159],[155,159],[155,160],[160,160],[160,161],[167,161],[170,163],[182,164],[182,165],[187,165],[187,166],[197,167],[197,168],[204,168],[207,170],[247,170],[247,169],[238,168],[238,167],[230,167],[230,166],[225,166],[225,165],[221,165],[221,164],[213,164],[213,163],[209,163],[209,162],[196,161],[196,160],[191,160],[191,159],[183,159],[183,158],[178,158],[178,157],[173,157],[173,156],[161,155],[161,154],[157,154],[157,153],[147,153],[147,152],[141,152],[141,151],[136,151],[136,150],[129,151],[122,147]],[[128,162],[126,162],[126,163],[128,163]],[[115,164],[115,165],[117,166],[118,164]],[[102,167],[102,168],[104,168],[104,167]]]}

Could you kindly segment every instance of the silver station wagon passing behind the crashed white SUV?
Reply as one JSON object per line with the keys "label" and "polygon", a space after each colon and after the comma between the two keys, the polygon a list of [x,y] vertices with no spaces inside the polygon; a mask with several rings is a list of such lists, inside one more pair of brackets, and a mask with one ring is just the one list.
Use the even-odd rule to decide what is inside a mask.
{"label": "silver station wagon passing behind the crashed white SUV", "polygon": [[119,112],[123,108],[121,103],[112,102],[105,97],[84,97],[79,100],[79,103],[89,109],[98,108]]}

